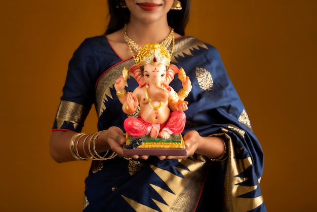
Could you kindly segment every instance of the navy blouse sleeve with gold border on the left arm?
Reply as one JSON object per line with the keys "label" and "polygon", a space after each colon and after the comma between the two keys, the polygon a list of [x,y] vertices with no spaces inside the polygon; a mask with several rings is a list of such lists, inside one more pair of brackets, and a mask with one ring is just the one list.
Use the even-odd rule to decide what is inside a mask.
{"label": "navy blouse sleeve with gold border on the left arm", "polygon": [[63,95],[53,130],[80,132],[95,100],[99,63],[89,40],[74,52],[68,64]]}

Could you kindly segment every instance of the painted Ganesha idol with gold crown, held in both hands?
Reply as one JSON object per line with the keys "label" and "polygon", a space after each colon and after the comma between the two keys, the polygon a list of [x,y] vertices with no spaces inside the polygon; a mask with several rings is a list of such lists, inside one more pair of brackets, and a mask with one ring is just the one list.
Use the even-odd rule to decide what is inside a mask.
{"label": "painted Ganesha idol with gold crown, held in both hands", "polygon": [[[184,99],[191,91],[189,77],[183,68],[170,64],[171,55],[160,44],[143,46],[135,61],[129,70],[124,68],[114,86],[123,112],[134,114],[137,109],[139,111],[137,117],[128,117],[124,121],[127,137],[124,153],[185,156],[181,132],[186,122],[184,111],[188,109]],[[133,92],[125,91],[129,72],[139,84]],[[178,92],[169,86],[175,74],[182,82]]]}

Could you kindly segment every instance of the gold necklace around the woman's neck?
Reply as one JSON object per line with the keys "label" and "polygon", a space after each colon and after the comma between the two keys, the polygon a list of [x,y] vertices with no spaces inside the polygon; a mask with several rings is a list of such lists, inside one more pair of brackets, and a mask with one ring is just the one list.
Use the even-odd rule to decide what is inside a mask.
{"label": "gold necklace around the woman's neck", "polygon": [[[174,51],[174,46],[175,46],[175,38],[174,38],[174,29],[172,27],[170,27],[170,29],[171,29],[171,31],[170,31],[169,35],[160,44],[162,46],[164,46],[166,49],[168,49],[168,47],[172,44],[172,48],[171,48],[171,52],[170,52],[170,55],[172,57],[172,54]],[[125,24],[125,26],[123,27],[123,36],[124,36],[124,39],[127,42],[128,46],[129,46],[132,57],[135,60],[133,50],[138,52],[140,50],[140,47],[137,43],[135,43],[131,38],[128,37],[127,24]]]}

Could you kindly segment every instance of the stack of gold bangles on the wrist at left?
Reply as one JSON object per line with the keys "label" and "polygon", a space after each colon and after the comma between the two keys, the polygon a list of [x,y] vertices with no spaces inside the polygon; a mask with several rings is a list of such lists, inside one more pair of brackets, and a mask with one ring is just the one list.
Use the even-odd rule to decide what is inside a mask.
{"label": "stack of gold bangles on the wrist at left", "polygon": [[[106,130],[103,130],[103,131],[106,131]],[[96,140],[97,140],[97,137],[103,131],[99,131],[99,132],[96,132],[94,134],[85,134],[85,133],[76,133],[76,134],[74,134],[71,137],[71,139],[70,139],[70,152],[71,152],[72,156],[76,160],[89,160],[89,159],[92,159],[92,160],[109,160],[109,159],[112,159],[115,156],[117,156],[117,153],[112,152],[112,154],[110,156],[106,157],[108,152],[109,152],[109,150],[106,152],[106,154],[104,156],[99,155],[99,153],[96,151]],[[79,151],[78,151],[78,143],[80,142],[80,139],[82,137],[85,137],[84,141],[83,141],[83,152],[85,154],[85,157],[82,157],[79,154]],[[88,152],[89,152],[89,155],[85,151],[85,148],[86,148],[85,147],[85,143],[87,142],[87,140],[88,140]]]}

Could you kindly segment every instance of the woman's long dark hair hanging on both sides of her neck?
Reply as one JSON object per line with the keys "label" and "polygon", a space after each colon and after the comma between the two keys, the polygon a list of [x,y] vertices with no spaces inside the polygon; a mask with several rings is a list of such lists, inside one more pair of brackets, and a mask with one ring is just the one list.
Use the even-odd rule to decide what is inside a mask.
{"label": "woman's long dark hair hanging on both sides of her neck", "polygon": [[[108,0],[108,16],[110,17],[108,27],[104,34],[110,34],[122,29],[125,23],[130,20],[130,11],[127,8],[117,8],[124,0]],[[176,33],[185,35],[185,28],[189,20],[191,0],[180,0],[182,10],[170,10],[167,14],[169,25],[174,28]]]}

